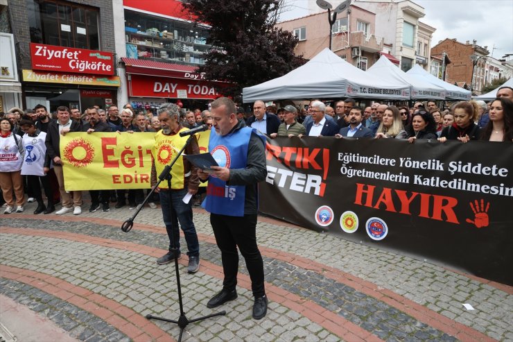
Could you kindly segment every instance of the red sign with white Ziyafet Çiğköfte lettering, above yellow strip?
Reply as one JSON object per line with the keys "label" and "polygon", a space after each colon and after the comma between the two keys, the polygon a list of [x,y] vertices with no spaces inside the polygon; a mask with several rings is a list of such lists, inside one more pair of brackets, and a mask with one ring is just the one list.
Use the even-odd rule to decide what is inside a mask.
{"label": "red sign with white Ziyafet \u00c7i\u011fk\u00f6fte lettering, above yellow strip", "polygon": [[31,43],[32,69],[114,75],[114,54],[105,51]]}

